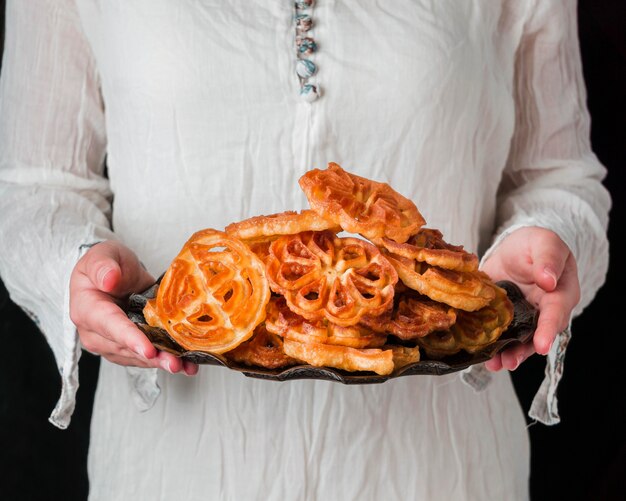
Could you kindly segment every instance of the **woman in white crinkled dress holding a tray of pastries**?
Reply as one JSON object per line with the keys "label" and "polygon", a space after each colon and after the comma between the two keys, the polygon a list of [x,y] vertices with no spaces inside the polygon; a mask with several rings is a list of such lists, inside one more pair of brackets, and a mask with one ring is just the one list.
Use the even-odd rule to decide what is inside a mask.
{"label": "woman in white crinkled dress holding a tray of pastries", "polygon": [[[508,371],[547,355],[531,415],[558,422],[608,262],[575,2],[13,0],[6,35],[0,273],[54,352],[56,426],[81,350],[102,356],[90,499],[528,497]],[[533,341],[447,376],[275,383],[125,317],[194,231],[306,207],[297,179],[329,161],[518,283]]]}

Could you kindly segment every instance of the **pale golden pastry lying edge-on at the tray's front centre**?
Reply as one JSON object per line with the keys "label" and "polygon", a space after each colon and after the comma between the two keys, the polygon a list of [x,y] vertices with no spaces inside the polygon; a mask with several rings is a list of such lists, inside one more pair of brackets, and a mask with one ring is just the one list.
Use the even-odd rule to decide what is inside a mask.
{"label": "pale golden pastry lying edge-on at the tray's front centre", "polygon": [[315,367],[334,367],[345,371],[372,371],[380,376],[394,369],[393,351],[377,348],[357,349],[322,343],[301,343],[285,339],[285,353]]}

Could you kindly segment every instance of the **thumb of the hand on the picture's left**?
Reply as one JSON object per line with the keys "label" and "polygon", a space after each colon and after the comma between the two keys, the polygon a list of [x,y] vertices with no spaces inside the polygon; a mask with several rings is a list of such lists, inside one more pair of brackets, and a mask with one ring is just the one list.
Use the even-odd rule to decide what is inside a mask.
{"label": "thumb of the hand on the picture's left", "polygon": [[102,242],[90,252],[93,255],[87,275],[102,292],[121,298],[154,283],[137,256],[119,243]]}

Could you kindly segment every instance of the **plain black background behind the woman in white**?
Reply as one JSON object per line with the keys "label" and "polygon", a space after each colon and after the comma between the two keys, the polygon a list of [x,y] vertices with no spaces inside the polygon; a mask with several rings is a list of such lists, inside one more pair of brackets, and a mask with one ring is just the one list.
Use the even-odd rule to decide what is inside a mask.
{"label": "plain black background behind the woman in white", "polygon": [[[0,8],[4,27],[4,1]],[[605,185],[613,197],[611,262],[605,286],[574,321],[558,392],[562,421],[552,427],[529,427],[534,501],[626,499],[626,336],[621,319],[626,307],[622,257],[626,248],[619,239],[626,215],[625,26],[623,0],[579,2],[592,144],[608,169]],[[98,359],[83,355],[77,408],[70,427],[61,431],[47,421],[60,391],[52,353],[1,282],[0,343],[0,498],[86,499],[86,454]],[[513,373],[526,411],[543,378],[543,367],[543,360],[534,356]]]}

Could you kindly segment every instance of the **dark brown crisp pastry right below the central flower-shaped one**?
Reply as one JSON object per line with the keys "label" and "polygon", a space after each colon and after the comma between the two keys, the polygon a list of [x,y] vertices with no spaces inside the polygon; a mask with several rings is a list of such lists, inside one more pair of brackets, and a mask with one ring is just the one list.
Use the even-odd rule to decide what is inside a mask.
{"label": "dark brown crisp pastry right below the central flower-shaped one", "polygon": [[456,310],[426,296],[398,294],[394,307],[377,317],[361,318],[364,325],[374,332],[393,334],[405,341],[424,337],[436,330],[446,330],[456,321]]}

